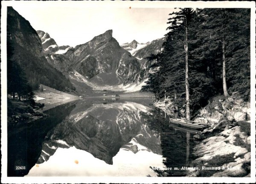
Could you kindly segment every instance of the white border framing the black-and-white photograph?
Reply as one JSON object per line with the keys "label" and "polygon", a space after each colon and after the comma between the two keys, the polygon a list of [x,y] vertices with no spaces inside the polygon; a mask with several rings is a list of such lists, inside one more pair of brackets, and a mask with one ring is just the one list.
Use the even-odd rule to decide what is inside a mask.
{"label": "white border framing the black-and-white photograph", "polygon": [[[248,178],[200,178],[200,177],[7,177],[7,65],[6,65],[6,17],[7,6],[76,6],[120,8],[250,8],[251,48],[251,135],[255,135],[255,2],[253,1],[1,1],[1,183],[255,183],[255,137],[251,140],[251,177]],[[167,20],[166,20],[167,21]]]}

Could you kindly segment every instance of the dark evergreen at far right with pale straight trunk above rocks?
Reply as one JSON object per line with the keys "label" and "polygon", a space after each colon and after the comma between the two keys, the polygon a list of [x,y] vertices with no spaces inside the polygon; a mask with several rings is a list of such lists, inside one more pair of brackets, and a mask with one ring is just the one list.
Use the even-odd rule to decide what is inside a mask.
{"label": "dark evergreen at far right with pale straight trunk above rocks", "polygon": [[[197,48],[197,54],[201,61],[205,60],[212,64],[209,71],[212,72],[215,82],[218,83],[218,78],[222,77],[222,90],[224,96],[228,96],[228,86],[231,84],[227,83],[231,83],[234,76],[241,74],[232,72],[236,70],[234,66],[241,68],[235,64],[235,61],[239,61],[240,59],[237,60],[239,57],[243,58],[239,65],[247,65],[245,68],[248,68],[248,63],[250,63],[248,62],[250,60],[250,54],[248,54],[250,51],[250,34],[248,33],[250,31],[250,10],[245,8],[204,8],[198,12],[201,24],[198,26],[197,36],[202,42]],[[241,52],[242,50],[244,53]],[[240,56],[234,55],[236,51],[239,51]],[[222,68],[219,68],[220,66]],[[230,70],[230,68],[233,69]],[[243,76],[248,76],[248,74]],[[233,82],[233,84],[235,83]]]}

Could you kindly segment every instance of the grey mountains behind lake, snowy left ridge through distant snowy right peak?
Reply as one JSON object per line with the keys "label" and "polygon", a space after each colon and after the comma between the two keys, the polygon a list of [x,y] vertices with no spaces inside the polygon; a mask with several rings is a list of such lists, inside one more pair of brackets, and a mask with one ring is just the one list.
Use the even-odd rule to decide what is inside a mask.
{"label": "grey mountains behind lake, snowy left ridge through distant snowy right peak", "polygon": [[88,81],[87,84],[92,83],[90,86],[139,85],[147,77],[149,65],[145,59],[134,57],[134,52],[144,48],[146,51],[141,53],[148,54],[150,49],[159,51],[162,47],[161,44],[152,47],[151,45],[157,42],[155,40],[145,44],[133,40],[120,46],[112,37],[112,30],[75,48],[59,47],[48,33],[37,32],[43,43],[47,61],[71,78],[76,78],[74,74],[78,73]]}

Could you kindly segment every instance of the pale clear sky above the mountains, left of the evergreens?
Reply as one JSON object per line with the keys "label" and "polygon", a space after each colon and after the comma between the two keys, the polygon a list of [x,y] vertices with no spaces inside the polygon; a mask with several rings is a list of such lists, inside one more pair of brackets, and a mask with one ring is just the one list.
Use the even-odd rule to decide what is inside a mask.
{"label": "pale clear sky above the mountains, left of the evergreens", "polygon": [[112,29],[119,44],[164,37],[174,8],[86,6],[13,6],[35,30],[47,32],[61,45],[76,46]]}

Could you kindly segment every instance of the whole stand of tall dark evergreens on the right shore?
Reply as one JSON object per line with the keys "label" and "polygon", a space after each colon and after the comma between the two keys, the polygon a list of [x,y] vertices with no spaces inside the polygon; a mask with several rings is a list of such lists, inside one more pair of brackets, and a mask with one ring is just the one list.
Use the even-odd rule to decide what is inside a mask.
{"label": "whole stand of tall dark evergreens on the right shore", "polygon": [[179,108],[189,106],[192,115],[217,93],[250,95],[250,9],[197,9],[187,16],[187,25],[180,11],[171,14],[163,50],[148,58],[157,61],[151,65],[156,72],[144,88],[159,98],[170,96]]}

